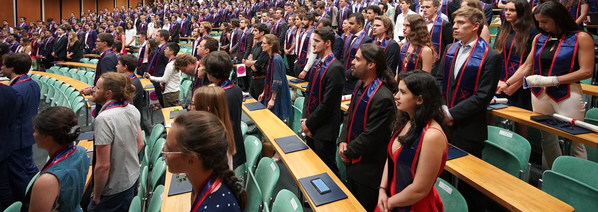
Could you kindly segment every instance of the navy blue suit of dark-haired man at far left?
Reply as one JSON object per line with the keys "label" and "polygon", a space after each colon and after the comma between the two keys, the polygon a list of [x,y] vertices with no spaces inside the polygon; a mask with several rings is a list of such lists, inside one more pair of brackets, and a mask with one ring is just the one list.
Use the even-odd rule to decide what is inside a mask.
{"label": "navy blue suit of dark-haired man at far left", "polygon": [[39,86],[33,80],[13,84],[17,95],[23,99],[21,111],[16,114],[13,125],[9,128],[14,150],[8,157],[8,178],[11,179],[13,198],[21,201],[25,198],[25,189],[29,181],[38,172],[33,163],[33,117],[38,113]]}

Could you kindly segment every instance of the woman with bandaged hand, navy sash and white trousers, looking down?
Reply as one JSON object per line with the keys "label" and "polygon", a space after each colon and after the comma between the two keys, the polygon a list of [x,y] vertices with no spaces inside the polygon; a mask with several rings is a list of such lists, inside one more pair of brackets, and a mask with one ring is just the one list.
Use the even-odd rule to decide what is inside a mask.
{"label": "woman with bandaged hand, navy sash and white trousers, looking down", "polygon": [[[556,1],[544,2],[533,11],[536,28],[541,32],[533,41],[526,62],[496,92],[511,90],[521,84],[532,91],[532,109],[540,114],[560,114],[584,119],[584,102],[579,81],[592,77],[593,39],[569,16],[567,8]],[[542,133],[542,169],[551,169],[561,155],[557,135]],[[585,147],[573,142],[573,156],[587,159]]]}

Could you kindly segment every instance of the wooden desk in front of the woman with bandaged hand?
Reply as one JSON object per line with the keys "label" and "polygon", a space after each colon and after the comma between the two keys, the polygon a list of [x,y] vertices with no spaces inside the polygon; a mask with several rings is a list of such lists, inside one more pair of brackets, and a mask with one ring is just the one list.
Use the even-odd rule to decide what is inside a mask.
{"label": "wooden desk in front of the woman with bandaged hand", "polygon": [[542,115],[539,113],[534,113],[532,111],[524,110],[513,106],[496,110],[490,110],[488,111],[488,113],[493,114],[495,116],[503,117],[508,120],[512,120],[514,122],[523,123],[524,125],[531,126],[532,128],[550,132],[551,134],[559,135],[560,137],[567,138],[569,140],[576,141],[587,146],[598,148],[598,133],[592,132],[588,134],[572,135],[568,134],[567,132],[551,128],[549,126],[542,125],[541,123],[534,122],[529,119],[530,116]]}

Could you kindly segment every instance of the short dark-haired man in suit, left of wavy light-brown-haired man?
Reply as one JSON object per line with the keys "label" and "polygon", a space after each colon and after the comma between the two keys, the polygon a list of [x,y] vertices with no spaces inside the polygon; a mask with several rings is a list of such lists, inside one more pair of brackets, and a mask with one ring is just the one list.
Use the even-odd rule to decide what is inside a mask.
{"label": "short dark-haired man in suit, left of wavy light-brown-haired man", "polygon": [[351,13],[349,16],[349,28],[351,29],[351,34],[353,34],[353,38],[347,39],[347,41],[343,44],[343,62],[344,62],[344,77],[347,81],[344,83],[343,95],[349,95],[353,93],[353,89],[355,89],[355,84],[359,80],[356,77],[353,77],[351,74],[351,62],[355,58],[355,54],[359,46],[362,44],[372,43],[370,37],[367,36],[366,32],[364,31],[364,15],[361,13]]}

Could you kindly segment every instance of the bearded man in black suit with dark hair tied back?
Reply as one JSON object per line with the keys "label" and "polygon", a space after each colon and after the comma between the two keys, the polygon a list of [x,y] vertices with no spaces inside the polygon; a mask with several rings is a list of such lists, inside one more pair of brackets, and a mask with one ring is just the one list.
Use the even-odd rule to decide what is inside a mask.
{"label": "bearded man in black suit with dark hair tied back", "polygon": [[338,155],[347,166],[347,188],[371,211],[378,202],[392,134],[389,126],[396,113],[392,93],[398,88],[380,46],[361,45],[351,63],[352,75],[361,81],[344,117]]}

